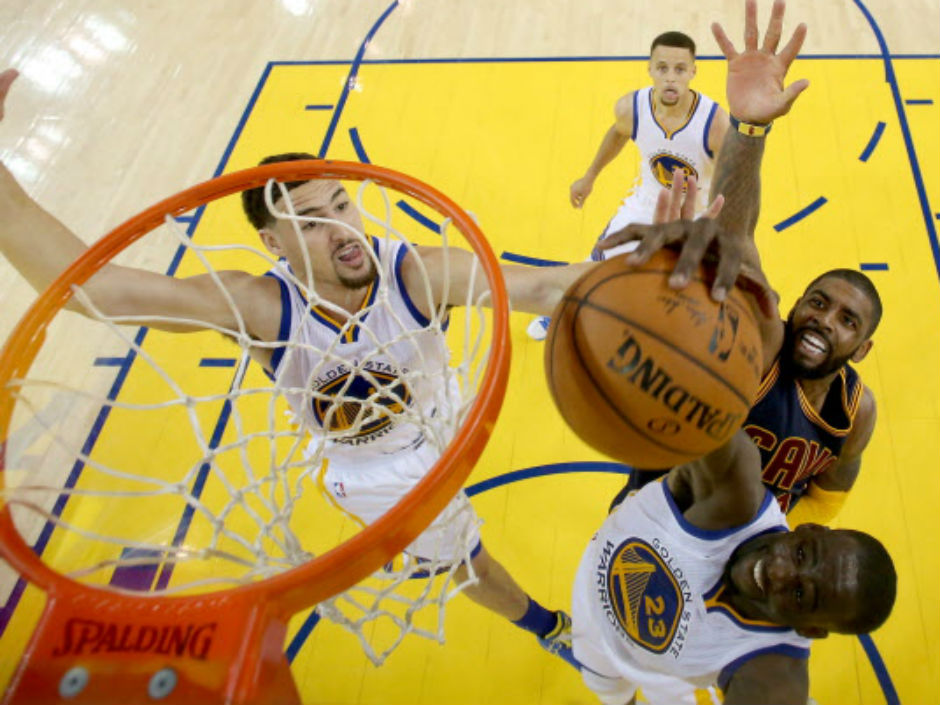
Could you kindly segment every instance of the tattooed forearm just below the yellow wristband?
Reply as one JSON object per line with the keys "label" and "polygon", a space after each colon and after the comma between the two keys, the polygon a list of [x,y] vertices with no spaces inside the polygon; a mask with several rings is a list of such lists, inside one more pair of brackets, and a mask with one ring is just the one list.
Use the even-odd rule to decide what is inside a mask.
{"label": "tattooed forearm just below the yellow wristband", "polygon": [[735,235],[753,238],[760,214],[760,165],[764,138],[748,137],[729,129],[718,152],[710,201],[723,194],[718,222]]}

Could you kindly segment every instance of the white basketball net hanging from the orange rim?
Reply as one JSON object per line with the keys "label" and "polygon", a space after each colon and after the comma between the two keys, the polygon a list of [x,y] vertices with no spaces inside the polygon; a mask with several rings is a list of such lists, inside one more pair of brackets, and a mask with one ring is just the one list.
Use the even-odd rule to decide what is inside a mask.
{"label": "white basketball net hanging from the orange rim", "polygon": [[[276,206],[275,188],[281,192]],[[270,182],[266,199],[277,218],[292,223],[298,238],[304,223],[322,220],[295,215],[282,185]],[[321,472],[325,460],[335,456],[342,462],[330,461],[333,465],[347,472],[361,466],[363,477],[371,477],[368,473],[384,467],[376,463],[373,447],[388,450],[392,440],[407,434],[420,437],[421,447],[393,457],[405,458],[407,465],[410,453],[429,459],[427,465],[440,455],[463,422],[486,366],[490,316],[483,305],[489,292],[471,299],[468,291],[462,310],[435,307],[430,323],[416,329],[395,305],[394,267],[386,253],[401,243],[414,256],[416,238],[448,252],[454,246],[469,249],[467,241],[449,221],[439,234],[416,225],[393,205],[386,189],[370,182],[359,185],[355,201],[379,252],[371,240],[352,233],[379,273],[374,300],[356,312],[344,312],[317,294],[309,261],[305,272],[295,273],[260,248],[221,244],[223,237],[246,239],[231,235],[231,229],[219,244],[206,242],[206,218],[197,244],[179,221],[166,218],[161,231],[186,248],[184,262],[193,273],[213,277],[239,321],[234,330],[196,323],[237,343],[237,355],[231,342],[211,333],[150,331],[139,343],[140,329],[134,326],[152,326],[158,319],[106,316],[83,290],[75,290],[97,322],[76,324],[77,316],[58,316],[29,378],[11,383],[18,403],[7,442],[4,499],[28,542],[44,527],[54,527],[41,546],[47,564],[83,582],[134,594],[208,592],[250,583],[300,565],[358,530],[353,519],[331,506],[343,498],[345,486],[327,491],[326,499],[316,489],[326,489],[324,478],[330,477]],[[218,206],[223,219],[224,203],[211,204],[207,217]],[[231,211],[233,204],[227,207]],[[218,273],[222,269],[277,270],[306,300],[303,317],[332,317],[341,323],[338,331],[319,342],[298,336],[284,343],[253,340]],[[425,291],[413,292],[417,301],[430,297],[428,273],[423,274]],[[482,269],[477,276],[484,276]],[[382,331],[374,328],[378,320],[385,321]],[[75,325],[82,326],[81,333],[69,327]],[[353,334],[371,350],[356,360],[344,351],[345,337]],[[74,366],[67,375],[57,372],[63,354],[68,357],[78,347],[74,341],[90,339],[98,350],[119,355],[129,350],[135,358],[117,396],[102,383],[107,374],[100,367],[92,366],[86,375],[76,375]],[[277,347],[283,347],[279,371],[307,361],[300,366],[302,379],[279,374],[271,381],[248,362],[253,352]],[[207,359],[214,362],[206,365]],[[194,371],[197,360],[201,367]],[[338,363],[347,370],[342,379],[335,375]],[[229,367],[220,368],[223,364]],[[322,427],[315,414],[304,413],[314,407]],[[101,414],[107,417],[103,423]],[[380,432],[370,434],[374,428]],[[362,440],[372,436],[379,439]],[[426,470],[413,472],[420,476]],[[479,521],[463,505],[461,493],[430,532],[439,540],[431,542],[431,550],[425,545],[421,561],[399,557],[321,603],[319,616],[353,631],[376,664],[408,633],[442,641],[444,604],[466,584],[456,584],[454,571],[477,541]],[[427,574],[439,575],[415,577]]]}

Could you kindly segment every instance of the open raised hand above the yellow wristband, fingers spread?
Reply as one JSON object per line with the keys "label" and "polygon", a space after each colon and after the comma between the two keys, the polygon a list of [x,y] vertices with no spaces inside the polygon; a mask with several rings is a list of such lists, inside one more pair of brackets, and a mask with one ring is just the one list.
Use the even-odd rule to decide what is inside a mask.
{"label": "open raised hand above the yellow wristband, fingers spread", "polygon": [[800,79],[784,88],[790,64],[806,39],[806,25],[799,24],[786,46],[777,53],[783,33],[784,0],[775,0],[770,23],[760,49],[757,48],[757,0],[746,0],[744,16],[744,51],[738,53],[717,22],[712,34],[728,60],[728,110],[744,122],[767,124],[785,115],[796,97],[806,90],[809,81]]}

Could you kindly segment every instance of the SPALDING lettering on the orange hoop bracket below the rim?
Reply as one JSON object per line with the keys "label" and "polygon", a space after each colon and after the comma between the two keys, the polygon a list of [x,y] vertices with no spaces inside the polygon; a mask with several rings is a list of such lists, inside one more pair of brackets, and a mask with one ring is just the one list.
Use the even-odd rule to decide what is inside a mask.
{"label": "SPALDING lettering on the orange hoop bracket below the rim", "polygon": [[53,656],[104,652],[153,653],[204,660],[212,647],[216,622],[187,625],[114,624],[94,619],[68,620]]}

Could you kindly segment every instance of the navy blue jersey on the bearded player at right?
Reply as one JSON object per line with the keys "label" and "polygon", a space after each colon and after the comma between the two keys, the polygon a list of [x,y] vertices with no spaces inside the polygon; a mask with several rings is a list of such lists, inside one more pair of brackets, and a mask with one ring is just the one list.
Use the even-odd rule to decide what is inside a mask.
{"label": "navy blue jersey on the bearded player at right", "polygon": [[764,484],[784,512],[806,492],[810,478],[839,459],[861,396],[861,380],[848,365],[833,380],[820,413],[780,358],[764,375],[744,430],[760,448]]}

